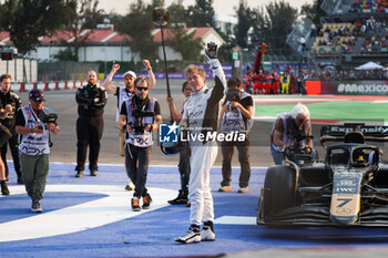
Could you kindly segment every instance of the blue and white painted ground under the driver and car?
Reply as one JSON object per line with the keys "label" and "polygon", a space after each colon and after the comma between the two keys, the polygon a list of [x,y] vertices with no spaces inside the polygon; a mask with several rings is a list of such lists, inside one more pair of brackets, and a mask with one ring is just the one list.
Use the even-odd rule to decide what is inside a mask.
{"label": "blue and white painted ground under the driver and car", "polygon": [[[12,167],[12,164],[9,164]],[[216,240],[181,245],[173,238],[188,227],[185,206],[166,203],[177,194],[175,166],[152,166],[147,187],[150,210],[130,208],[123,165],[100,165],[98,177],[75,178],[72,164],[52,164],[42,214],[30,211],[23,186],[10,184],[11,195],[0,197],[0,257],[257,257],[289,249],[290,257],[333,248],[386,250],[386,229],[267,228],[256,225],[258,189],[265,168],[254,167],[249,193],[238,194],[239,169],[233,168],[231,193],[219,193],[221,168],[211,171]],[[11,182],[14,173],[11,172]],[[12,240],[10,240],[12,239]],[[244,252],[248,251],[248,252]],[[270,256],[273,256],[270,255]]]}

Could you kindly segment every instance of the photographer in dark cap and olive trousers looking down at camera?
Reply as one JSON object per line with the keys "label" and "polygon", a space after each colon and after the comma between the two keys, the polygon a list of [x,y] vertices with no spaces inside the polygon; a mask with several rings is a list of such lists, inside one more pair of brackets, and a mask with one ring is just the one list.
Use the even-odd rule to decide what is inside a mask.
{"label": "photographer in dark cap and olive trousers looking down at camera", "polygon": [[43,198],[45,179],[49,174],[50,132],[58,134],[60,127],[52,122],[40,120],[43,112],[43,92],[31,90],[30,105],[17,112],[16,132],[19,134],[20,167],[27,194],[32,199],[31,211],[41,213],[40,199]]}

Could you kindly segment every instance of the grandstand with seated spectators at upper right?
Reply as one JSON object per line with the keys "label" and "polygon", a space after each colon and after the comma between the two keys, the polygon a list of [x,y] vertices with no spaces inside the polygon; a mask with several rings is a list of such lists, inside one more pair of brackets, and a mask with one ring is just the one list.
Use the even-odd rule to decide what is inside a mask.
{"label": "grandstand with seated spectators at upper right", "polygon": [[287,38],[310,71],[353,70],[368,61],[388,65],[388,0],[325,0],[319,24],[304,19]]}

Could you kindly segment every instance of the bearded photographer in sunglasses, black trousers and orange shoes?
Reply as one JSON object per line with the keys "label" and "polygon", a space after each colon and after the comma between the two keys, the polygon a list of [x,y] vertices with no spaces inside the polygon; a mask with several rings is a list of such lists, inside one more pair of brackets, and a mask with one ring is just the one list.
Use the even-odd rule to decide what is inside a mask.
{"label": "bearded photographer in sunglasses, black trousers and orange shoes", "polygon": [[118,125],[126,132],[125,169],[135,184],[131,202],[132,210],[140,211],[141,198],[143,209],[149,209],[152,202],[145,183],[153,145],[152,132],[159,128],[162,116],[156,99],[149,97],[150,84],[146,78],[137,76],[134,85],[135,94],[123,102]]}

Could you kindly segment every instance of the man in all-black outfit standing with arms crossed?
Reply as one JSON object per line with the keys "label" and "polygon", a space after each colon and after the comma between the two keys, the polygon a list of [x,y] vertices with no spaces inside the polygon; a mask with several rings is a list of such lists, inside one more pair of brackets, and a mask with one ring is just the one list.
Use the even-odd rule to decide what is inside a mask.
{"label": "man in all-black outfit standing with arms crossed", "polygon": [[100,140],[104,131],[103,113],[108,93],[105,90],[96,86],[96,73],[94,71],[88,73],[88,84],[76,90],[75,100],[79,105],[75,177],[82,177],[83,175],[88,145],[90,175],[96,176]]}

